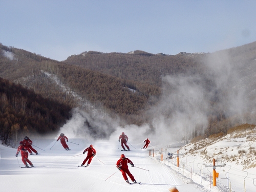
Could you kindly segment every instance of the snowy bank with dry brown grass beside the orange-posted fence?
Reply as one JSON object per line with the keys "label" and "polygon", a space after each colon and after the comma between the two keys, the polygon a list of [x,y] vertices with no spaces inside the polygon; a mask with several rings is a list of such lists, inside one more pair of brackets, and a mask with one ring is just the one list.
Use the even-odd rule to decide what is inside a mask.
{"label": "snowy bank with dry brown grass beside the orange-posted fence", "polygon": [[[190,177],[193,182],[205,185],[208,181],[209,190],[256,191],[255,137],[255,127],[248,127],[223,137],[189,143],[179,150],[180,167],[176,166],[176,159],[166,164],[175,167],[182,177]],[[212,187],[214,159],[219,173],[217,187]]]}

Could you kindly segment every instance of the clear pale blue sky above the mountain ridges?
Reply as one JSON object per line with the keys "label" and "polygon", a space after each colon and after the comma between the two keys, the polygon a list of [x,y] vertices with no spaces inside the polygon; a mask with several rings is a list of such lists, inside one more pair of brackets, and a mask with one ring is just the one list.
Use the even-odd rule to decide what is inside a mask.
{"label": "clear pale blue sky above the mountain ridges", "polygon": [[0,1],[0,42],[56,60],[84,51],[214,52],[256,41],[256,1]]}

